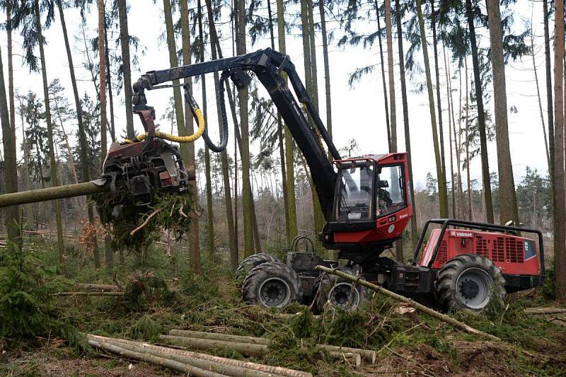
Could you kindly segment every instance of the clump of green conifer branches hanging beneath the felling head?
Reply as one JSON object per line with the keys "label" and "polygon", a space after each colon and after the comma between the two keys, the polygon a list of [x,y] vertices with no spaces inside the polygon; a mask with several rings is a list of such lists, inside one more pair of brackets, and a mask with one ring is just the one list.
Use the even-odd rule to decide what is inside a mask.
{"label": "clump of green conifer branches hanging beneath the felling head", "polygon": [[145,250],[167,231],[180,241],[190,231],[195,203],[190,190],[169,192],[154,190],[151,204],[137,206],[127,187],[117,192],[96,195],[100,221],[111,226],[112,246],[117,250]]}

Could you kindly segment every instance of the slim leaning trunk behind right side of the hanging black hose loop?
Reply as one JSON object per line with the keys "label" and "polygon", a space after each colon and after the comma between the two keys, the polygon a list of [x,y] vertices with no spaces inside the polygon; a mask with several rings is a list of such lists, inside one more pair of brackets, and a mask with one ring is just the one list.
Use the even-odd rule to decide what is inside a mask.
{"label": "slim leaning trunk behind right side of the hanging black hose loop", "polygon": [[[208,12],[208,25],[210,35],[210,47],[212,51],[212,60],[218,59],[216,54],[216,43],[218,42],[218,35],[216,35],[216,28],[214,26],[214,16],[212,14],[211,1],[206,1]],[[220,101],[224,101],[224,97],[220,97],[219,93],[219,74],[214,72],[214,91],[216,92],[216,111],[218,112],[218,119],[221,119]],[[219,134],[222,134],[222,124],[219,123]],[[238,268],[238,246],[236,245],[236,235],[234,233],[234,218],[232,213],[232,199],[230,191],[230,175],[228,153],[226,149],[220,153],[222,165],[222,179],[224,182],[224,207],[226,207],[226,227],[228,231],[228,240],[230,247],[230,266],[232,272],[236,272]]]}

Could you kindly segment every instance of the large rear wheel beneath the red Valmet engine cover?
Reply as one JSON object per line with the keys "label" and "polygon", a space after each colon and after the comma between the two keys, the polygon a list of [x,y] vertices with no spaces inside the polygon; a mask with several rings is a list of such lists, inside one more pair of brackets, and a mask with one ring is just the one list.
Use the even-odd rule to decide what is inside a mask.
{"label": "large rear wheel beneath the red Valmet engine cover", "polygon": [[494,295],[505,297],[505,279],[499,267],[475,254],[446,262],[437,279],[437,298],[446,309],[481,311]]}

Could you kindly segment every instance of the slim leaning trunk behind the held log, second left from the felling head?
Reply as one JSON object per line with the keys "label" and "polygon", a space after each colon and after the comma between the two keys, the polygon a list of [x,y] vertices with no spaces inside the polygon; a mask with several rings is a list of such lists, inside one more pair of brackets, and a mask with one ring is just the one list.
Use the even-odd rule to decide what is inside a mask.
{"label": "slim leaning trunk behind the held log, second left from the felling head", "polygon": [[[43,50],[43,33],[41,29],[41,13],[39,0],[35,0],[35,28],[37,30],[37,39],[40,47],[41,74],[43,81],[43,96],[45,101],[45,121],[47,122],[47,143],[49,144],[50,158],[50,178],[52,187],[59,186],[57,178],[57,161],[55,161],[55,148],[53,142],[53,124],[51,122],[51,108],[49,103],[49,86],[47,86],[47,68],[45,64],[45,50]],[[63,240],[63,221],[61,219],[61,202],[55,200],[55,222],[57,225],[57,251],[59,253],[59,263],[63,262],[65,251]]]}

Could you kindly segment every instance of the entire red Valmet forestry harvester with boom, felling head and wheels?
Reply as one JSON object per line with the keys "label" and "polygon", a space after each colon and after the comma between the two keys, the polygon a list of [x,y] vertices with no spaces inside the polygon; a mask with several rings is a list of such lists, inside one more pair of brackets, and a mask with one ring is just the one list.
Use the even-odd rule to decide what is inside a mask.
{"label": "entire red Valmet forestry harvester with boom, felling head and wheels", "polygon": [[[542,284],[543,237],[533,229],[432,219],[422,229],[410,264],[383,257],[383,251],[393,248],[395,240],[403,236],[412,216],[407,153],[341,158],[289,56],[271,49],[142,75],[134,83],[133,103],[147,134],[110,147],[103,172],[106,182],[127,182],[141,202],[154,187],[169,185],[184,190],[188,178],[183,161],[176,147],[162,139],[187,139],[174,139],[154,129],[154,111],[147,106],[146,91],[171,88],[174,85],[162,84],[217,71],[222,72],[216,98],[223,126],[221,145],[208,139],[200,110],[184,86],[185,100],[199,120],[197,133],[204,132],[213,151],[224,150],[228,137],[225,82],[231,79],[241,90],[250,83],[249,74],[254,74],[267,89],[310,169],[326,219],[320,241],[325,248],[338,250],[339,259],[347,261],[340,267],[337,261],[323,260],[313,250],[293,250],[287,253],[286,262],[265,253],[252,255],[238,268],[245,276],[242,294],[246,301],[267,307],[299,301],[312,303],[315,311],[322,311],[327,302],[355,308],[364,301],[361,286],[320,273],[316,265],[359,274],[361,279],[444,309],[480,311],[495,296]],[[0,197],[0,206],[3,203]],[[431,225],[435,228],[429,232]]]}

